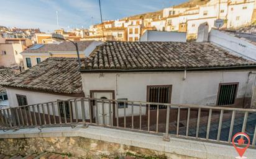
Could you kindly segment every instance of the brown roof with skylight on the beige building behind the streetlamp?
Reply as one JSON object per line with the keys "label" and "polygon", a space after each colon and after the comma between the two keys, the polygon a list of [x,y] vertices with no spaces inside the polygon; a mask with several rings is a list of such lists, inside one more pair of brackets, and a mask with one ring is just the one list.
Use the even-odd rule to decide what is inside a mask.
{"label": "brown roof with skylight on the beige building behind the streetlamp", "polygon": [[[76,43],[78,43],[78,49],[80,51],[85,51],[85,49],[91,43],[93,43],[93,40],[91,40],[91,41],[76,41]],[[30,48],[32,48],[32,46]],[[76,51],[76,47],[70,41],[62,41],[59,44],[58,43],[44,44],[42,47],[40,47],[38,49],[30,49],[30,48],[25,49],[25,51],[23,51],[23,53],[49,53],[49,52],[53,52],[53,51]]]}

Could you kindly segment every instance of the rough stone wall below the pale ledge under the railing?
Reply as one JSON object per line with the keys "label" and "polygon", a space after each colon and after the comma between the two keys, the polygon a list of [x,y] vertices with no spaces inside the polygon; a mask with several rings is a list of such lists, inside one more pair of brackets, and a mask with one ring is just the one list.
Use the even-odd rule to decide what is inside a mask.
{"label": "rough stone wall below the pale ledge under the railing", "polygon": [[83,137],[42,137],[25,139],[0,139],[0,153],[26,156],[31,153],[53,152],[71,154],[79,158],[120,158],[127,153],[147,156],[145,158],[186,158],[175,154],[164,154],[146,148],[104,142]]}

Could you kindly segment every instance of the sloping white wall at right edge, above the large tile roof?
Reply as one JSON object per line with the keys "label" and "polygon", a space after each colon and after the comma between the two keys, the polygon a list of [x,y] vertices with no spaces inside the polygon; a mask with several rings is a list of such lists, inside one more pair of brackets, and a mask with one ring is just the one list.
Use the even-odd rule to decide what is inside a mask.
{"label": "sloping white wall at right edge, above the large tile roof", "polygon": [[229,49],[240,56],[256,60],[256,45],[234,37],[233,35],[229,35],[229,33],[212,29],[209,33],[209,41]]}

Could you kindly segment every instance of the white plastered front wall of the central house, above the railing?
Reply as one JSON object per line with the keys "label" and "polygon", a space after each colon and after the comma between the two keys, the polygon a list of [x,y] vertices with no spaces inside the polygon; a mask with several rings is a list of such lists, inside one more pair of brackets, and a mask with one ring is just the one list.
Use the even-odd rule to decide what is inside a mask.
{"label": "white plastered front wall of the central house, above the railing", "polygon": [[[171,103],[216,105],[220,83],[239,82],[237,98],[243,98],[249,72],[188,71],[185,80],[183,80],[184,72],[106,73],[104,75],[82,73],[81,75],[85,97],[89,97],[90,90],[114,90],[116,99],[146,101],[147,85],[172,85]],[[129,110],[127,114],[130,114]]]}

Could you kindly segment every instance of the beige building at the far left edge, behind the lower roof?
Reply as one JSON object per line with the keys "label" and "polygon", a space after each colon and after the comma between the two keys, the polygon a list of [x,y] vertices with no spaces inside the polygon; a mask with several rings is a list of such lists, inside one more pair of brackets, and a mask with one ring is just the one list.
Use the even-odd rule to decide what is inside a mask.
{"label": "beige building at the far left edge, behind the lower roof", "polygon": [[0,37],[0,66],[22,66],[21,52],[31,45],[32,41],[26,38],[5,39]]}

